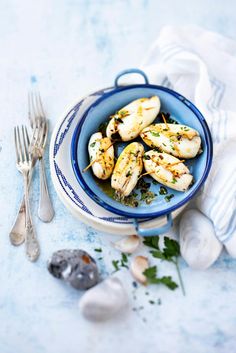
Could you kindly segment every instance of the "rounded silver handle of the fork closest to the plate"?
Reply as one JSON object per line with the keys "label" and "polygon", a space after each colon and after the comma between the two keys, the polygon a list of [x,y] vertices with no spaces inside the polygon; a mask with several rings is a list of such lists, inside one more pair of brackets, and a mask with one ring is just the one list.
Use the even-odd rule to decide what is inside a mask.
{"label": "rounded silver handle of the fork closest to the plate", "polygon": [[43,222],[51,222],[54,217],[54,209],[49,196],[46,173],[44,168],[43,158],[39,158],[39,173],[40,173],[40,196],[38,216]]}

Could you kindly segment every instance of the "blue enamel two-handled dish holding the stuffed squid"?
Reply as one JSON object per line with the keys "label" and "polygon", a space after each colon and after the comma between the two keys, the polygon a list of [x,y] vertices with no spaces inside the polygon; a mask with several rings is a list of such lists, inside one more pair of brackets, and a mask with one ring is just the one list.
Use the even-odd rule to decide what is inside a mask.
{"label": "blue enamel two-handled dish holding the stuffed squid", "polygon": [[[118,79],[122,75],[132,72],[140,73],[144,77],[145,84],[119,86]],[[146,181],[151,182],[150,190],[158,196],[149,205],[143,202],[137,208],[132,208],[121,204],[104,193],[102,188],[99,187],[98,181],[93,176],[91,169],[86,173],[83,173],[82,170],[89,164],[89,138],[94,132],[98,131],[99,125],[105,122],[110,115],[114,114],[114,112],[131,101],[141,97],[151,97],[153,95],[159,96],[161,100],[161,111],[171,113],[171,117],[179,123],[188,125],[199,132],[202,139],[203,153],[186,162],[195,180],[194,185],[187,192],[183,193],[167,188],[168,193],[174,195],[170,202],[167,202],[165,196],[159,195],[160,184],[154,185],[151,182],[152,179],[147,177]],[[121,148],[125,147],[128,143],[130,142],[121,144],[120,151]],[[145,146],[145,148],[148,149],[147,146]],[[141,235],[153,235],[157,232],[160,234],[166,231],[172,222],[171,212],[189,202],[205,182],[211,168],[212,153],[210,131],[199,110],[177,92],[162,86],[149,84],[145,73],[138,69],[130,69],[121,72],[115,79],[114,89],[109,93],[105,93],[89,107],[75,129],[71,144],[71,160],[74,173],[85,192],[95,202],[107,210],[133,218],[137,231]],[[167,216],[167,224],[161,229],[148,231],[142,231],[140,229],[138,219],[156,218],[163,215]]]}

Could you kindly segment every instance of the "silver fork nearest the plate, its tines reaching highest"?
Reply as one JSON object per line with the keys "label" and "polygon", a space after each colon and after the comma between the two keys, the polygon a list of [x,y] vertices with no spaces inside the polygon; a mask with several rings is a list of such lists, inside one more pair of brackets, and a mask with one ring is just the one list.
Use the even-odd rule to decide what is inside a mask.
{"label": "silver fork nearest the plate, its tines reaching highest", "polygon": [[44,168],[43,154],[47,143],[48,120],[46,119],[39,92],[30,92],[29,120],[33,129],[31,153],[34,159],[39,160],[40,196],[38,216],[43,222],[50,222],[54,217],[54,209],[49,196],[47,179]]}

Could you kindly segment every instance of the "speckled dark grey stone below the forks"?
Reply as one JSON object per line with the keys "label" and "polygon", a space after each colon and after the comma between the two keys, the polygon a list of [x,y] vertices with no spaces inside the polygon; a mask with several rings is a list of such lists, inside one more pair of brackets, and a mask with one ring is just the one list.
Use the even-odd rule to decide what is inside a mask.
{"label": "speckled dark grey stone below the forks", "polygon": [[84,250],[58,250],[48,261],[48,271],[76,289],[88,289],[98,283],[95,260]]}

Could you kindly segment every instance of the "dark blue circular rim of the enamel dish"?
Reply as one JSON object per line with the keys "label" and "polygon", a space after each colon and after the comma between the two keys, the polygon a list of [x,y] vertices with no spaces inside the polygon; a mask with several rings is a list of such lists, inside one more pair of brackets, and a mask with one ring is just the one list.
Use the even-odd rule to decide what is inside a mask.
{"label": "dark blue circular rim of the enamel dish", "polygon": [[[188,196],[184,197],[183,200],[181,200],[180,202],[172,205],[171,207],[167,207],[165,210],[162,211],[158,211],[158,212],[151,212],[151,213],[145,213],[144,214],[138,214],[138,213],[130,213],[130,212],[126,212],[126,211],[122,211],[119,210],[113,206],[110,206],[109,204],[107,204],[105,201],[103,201],[100,197],[98,197],[88,186],[88,184],[85,182],[80,170],[79,170],[79,166],[78,166],[78,162],[77,162],[77,144],[78,144],[78,139],[80,136],[80,132],[81,132],[81,128],[83,126],[83,123],[90,111],[91,108],[96,107],[98,104],[100,104],[100,102],[102,102],[104,99],[109,98],[109,96],[120,92],[120,91],[125,91],[125,90],[129,90],[129,89],[133,89],[133,88],[153,88],[153,89],[159,89],[162,91],[165,91],[169,94],[171,94],[172,96],[176,97],[178,100],[180,100],[183,104],[185,104],[189,109],[192,110],[192,112],[195,114],[195,116],[197,117],[197,119],[200,121],[202,127],[203,127],[203,131],[205,134],[205,142],[206,142],[206,147],[207,147],[207,161],[206,161],[206,166],[204,169],[204,173],[199,181],[199,184],[197,186],[196,189],[194,189],[192,192],[190,192],[188,194]],[[209,127],[207,125],[206,120],[204,119],[202,113],[197,109],[197,107],[190,102],[187,98],[185,98],[184,96],[182,96],[181,94],[177,93],[176,91],[173,91],[169,88],[163,87],[163,86],[158,86],[158,85],[151,85],[151,84],[137,84],[137,85],[129,85],[129,86],[121,86],[120,88],[115,88],[113,91],[108,92],[108,93],[104,93],[104,95],[99,98],[95,103],[91,104],[91,106],[85,111],[83,117],[81,118],[81,120],[79,121],[78,125],[75,128],[73,137],[72,137],[72,142],[71,142],[71,163],[72,163],[72,167],[76,176],[76,179],[78,180],[80,186],[83,188],[83,190],[87,193],[87,195],[93,200],[95,201],[97,204],[99,204],[100,206],[104,207],[106,210],[121,215],[121,216],[125,216],[128,218],[139,218],[139,219],[151,219],[151,218],[156,218],[156,217],[160,217],[163,215],[167,215],[173,211],[175,211],[176,209],[180,208],[181,206],[185,205],[187,202],[189,202],[195,195],[196,193],[200,190],[201,186],[204,184],[210,169],[211,169],[211,165],[212,165],[212,157],[213,157],[213,143],[212,143],[212,138],[211,138],[211,133],[209,130]]]}

